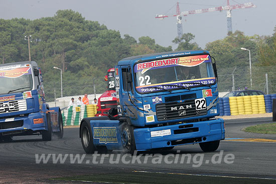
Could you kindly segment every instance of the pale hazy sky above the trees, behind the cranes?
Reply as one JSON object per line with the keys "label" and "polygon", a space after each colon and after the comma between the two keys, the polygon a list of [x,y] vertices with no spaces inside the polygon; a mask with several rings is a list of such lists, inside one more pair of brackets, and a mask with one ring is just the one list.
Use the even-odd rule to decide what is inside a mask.
{"label": "pale hazy sky above the trees, behind the cranes", "polygon": [[[149,36],[162,46],[177,37],[176,18],[155,19],[156,14],[176,14],[172,0],[0,0],[0,18],[39,19],[53,17],[58,10],[71,9],[86,20],[98,21],[108,29],[128,34],[138,40]],[[226,6],[226,0],[178,0],[180,11]],[[257,8],[232,11],[233,32],[247,36],[271,35],[276,25],[275,0],[230,0],[230,5],[252,2]],[[226,11],[188,15],[183,18],[183,33],[195,35],[194,42],[205,48],[206,43],[223,39],[227,35]]]}

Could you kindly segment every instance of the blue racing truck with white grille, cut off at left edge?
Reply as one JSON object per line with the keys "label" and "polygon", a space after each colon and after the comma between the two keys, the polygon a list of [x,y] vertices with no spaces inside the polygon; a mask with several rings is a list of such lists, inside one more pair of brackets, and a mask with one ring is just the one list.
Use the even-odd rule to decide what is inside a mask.
{"label": "blue racing truck with white grille, cut off at left edge", "polygon": [[49,108],[41,69],[34,61],[0,65],[0,139],[39,135],[51,140],[55,133],[63,137],[59,107]]}

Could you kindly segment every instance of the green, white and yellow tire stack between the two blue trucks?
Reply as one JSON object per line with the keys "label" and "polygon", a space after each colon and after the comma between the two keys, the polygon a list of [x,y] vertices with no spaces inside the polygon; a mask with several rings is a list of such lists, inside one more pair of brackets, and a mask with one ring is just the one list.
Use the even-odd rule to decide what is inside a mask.
{"label": "green, white and yellow tire stack between the two blue trucks", "polygon": [[94,117],[97,113],[96,105],[72,105],[62,113],[63,126],[80,125],[83,118]]}

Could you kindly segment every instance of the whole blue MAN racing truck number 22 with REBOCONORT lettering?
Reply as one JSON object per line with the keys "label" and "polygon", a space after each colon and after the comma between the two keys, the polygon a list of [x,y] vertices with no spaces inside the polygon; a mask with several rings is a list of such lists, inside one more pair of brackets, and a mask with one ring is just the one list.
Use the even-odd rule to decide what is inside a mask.
{"label": "whole blue MAN racing truck number 22 with REBOCONORT lettering", "polygon": [[80,137],[95,150],[172,149],[199,143],[215,151],[225,138],[217,70],[208,51],[175,51],[122,59],[115,66],[117,108],[84,118]]}

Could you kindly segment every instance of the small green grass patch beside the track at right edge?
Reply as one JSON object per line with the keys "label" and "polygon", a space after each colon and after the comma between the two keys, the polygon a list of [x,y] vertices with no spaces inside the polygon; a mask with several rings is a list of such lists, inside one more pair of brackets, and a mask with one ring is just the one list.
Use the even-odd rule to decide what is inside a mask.
{"label": "small green grass patch beside the track at right edge", "polygon": [[246,132],[276,134],[276,123],[258,124],[244,128]]}

